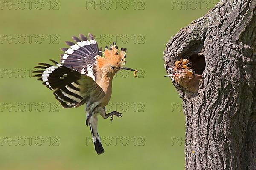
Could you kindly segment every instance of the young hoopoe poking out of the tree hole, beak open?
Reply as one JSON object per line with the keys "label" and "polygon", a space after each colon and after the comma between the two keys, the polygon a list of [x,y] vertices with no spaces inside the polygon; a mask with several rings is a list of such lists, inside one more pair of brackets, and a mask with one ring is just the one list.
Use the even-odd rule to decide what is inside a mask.
{"label": "young hoopoe poking out of the tree hole, beak open", "polygon": [[173,72],[172,74],[168,74],[166,76],[171,77],[172,82],[181,85],[188,91],[196,93],[198,91],[199,85],[202,80],[202,76],[199,74],[195,74],[195,71],[191,68],[191,63],[189,59],[177,60],[174,64],[173,68],[166,68]]}

